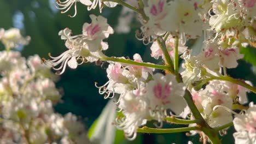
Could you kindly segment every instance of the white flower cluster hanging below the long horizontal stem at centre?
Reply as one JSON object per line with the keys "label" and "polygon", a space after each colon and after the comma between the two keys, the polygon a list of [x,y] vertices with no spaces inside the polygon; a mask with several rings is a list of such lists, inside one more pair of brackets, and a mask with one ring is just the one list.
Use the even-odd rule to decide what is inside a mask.
{"label": "white flower cluster hanging below the long horizontal stem at centre", "polygon": [[[141,56],[135,54],[134,61],[142,62]],[[155,119],[162,127],[166,116],[182,116],[187,104],[183,98],[185,86],[178,83],[171,74],[153,74],[154,69],[109,64],[107,76],[109,81],[99,88],[105,98],[119,97],[116,102],[124,117],[118,117],[115,125],[124,130],[128,139],[135,139],[137,128],[147,121]],[[171,110],[174,113],[167,113]]]}

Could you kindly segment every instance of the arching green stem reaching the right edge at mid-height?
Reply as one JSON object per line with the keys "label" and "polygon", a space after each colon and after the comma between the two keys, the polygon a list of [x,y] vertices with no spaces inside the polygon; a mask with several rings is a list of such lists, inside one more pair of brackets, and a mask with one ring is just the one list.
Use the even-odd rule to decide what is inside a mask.
{"label": "arching green stem reaching the right edge at mid-height", "polygon": [[229,81],[232,83],[236,83],[237,85],[243,86],[247,89],[249,89],[250,91],[256,93],[256,87],[252,87],[249,84],[247,84],[245,82],[245,80],[241,80],[241,79],[233,79],[232,77],[229,76],[212,76],[209,78],[209,80],[223,80],[223,81]]}

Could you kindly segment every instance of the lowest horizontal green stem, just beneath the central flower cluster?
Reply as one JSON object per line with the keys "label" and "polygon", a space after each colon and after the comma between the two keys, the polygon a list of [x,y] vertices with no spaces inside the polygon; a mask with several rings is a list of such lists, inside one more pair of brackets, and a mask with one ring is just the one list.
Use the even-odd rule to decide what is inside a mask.
{"label": "lowest horizontal green stem, just beneath the central flower cluster", "polygon": [[138,128],[138,133],[154,133],[154,134],[166,134],[166,133],[179,133],[190,130],[200,130],[199,127],[185,127],[185,128],[173,128],[173,129],[155,129],[155,128]]}

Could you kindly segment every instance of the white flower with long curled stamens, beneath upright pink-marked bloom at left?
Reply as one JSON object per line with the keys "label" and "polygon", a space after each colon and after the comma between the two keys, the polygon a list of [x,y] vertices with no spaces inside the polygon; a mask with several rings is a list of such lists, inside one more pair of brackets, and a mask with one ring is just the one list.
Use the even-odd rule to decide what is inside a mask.
{"label": "white flower with long curled stamens, beneath upright pink-marked bloom at left", "polygon": [[[91,30],[89,33],[95,32],[94,29]],[[95,34],[95,33],[94,33]],[[108,44],[103,42],[102,39],[98,39],[98,43],[96,43],[96,47],[93,42],[94,35],[90,35],[92,37],[88,37],[88,35],[71,35],[71,30],[69,28],[65,28],[59,32],[61,39],[65,40],[65,45],[68,48],[67,51],[61,53],[60,56],[53,57],[49,53],[49,57],[51,60],[46,60],[43,58],[43,63],[48,67],[53,67],[54,70],[61,70],[57,71],[56,74],[63,74],[67,65],[69,68],[75,69],[78,65],[83,64],[84,62],[96,62],[100,57],[105,57],[105,55],[101,52],[101,50],[107,50]],[[108,34],[98,34],[100,37],[106,37]],[[87,40],[89,38],[89,40]],[[87,41],[88,43],[85,43]],[[94,51],[89,50],[89,45],[91,49]],[[59,65],[59,67],[57,67]],[[57,68],[56,68],[57,67]]]}

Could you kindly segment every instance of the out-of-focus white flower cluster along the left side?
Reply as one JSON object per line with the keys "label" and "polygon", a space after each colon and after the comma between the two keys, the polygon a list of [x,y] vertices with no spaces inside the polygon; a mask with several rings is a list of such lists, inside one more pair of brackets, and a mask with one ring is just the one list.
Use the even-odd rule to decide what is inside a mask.
{"label": "out-of-focus white flower cluster along the left side", "polygon": [[[7,37],[11,31],[17,33]],[[7,46],[24,44],[18,29],[3,35]],[[76,116],[54,113],[53,105],[61,98],[53,81],[57,77],[40,62],[38,55],[25,59],[18,51],[0,52],[1,143],[86,142],[84,125]]]}

